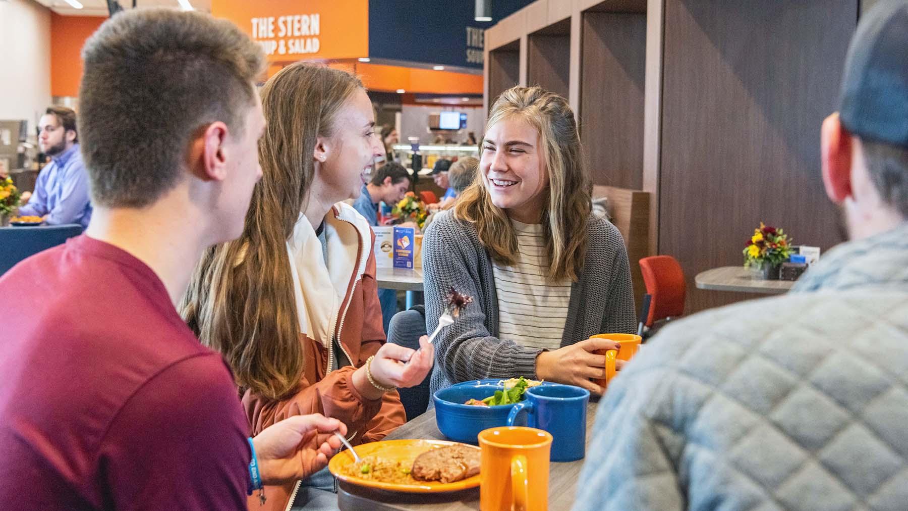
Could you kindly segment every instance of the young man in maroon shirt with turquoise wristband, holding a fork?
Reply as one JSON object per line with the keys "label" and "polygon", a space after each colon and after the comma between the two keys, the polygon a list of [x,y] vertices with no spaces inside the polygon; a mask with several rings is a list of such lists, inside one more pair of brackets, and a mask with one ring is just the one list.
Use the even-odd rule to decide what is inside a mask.
{"label": "young man in maroon shirt with turquoise wristband, holding a fork", "polygon": [[256,468],[308,476],[346,433],[294,416],[249,441],[230,370],[174,308],[262,175],[262,52],[209,15],[142,10],[83,58],[91,225],[0,278],[0,507],[245,509]]}

